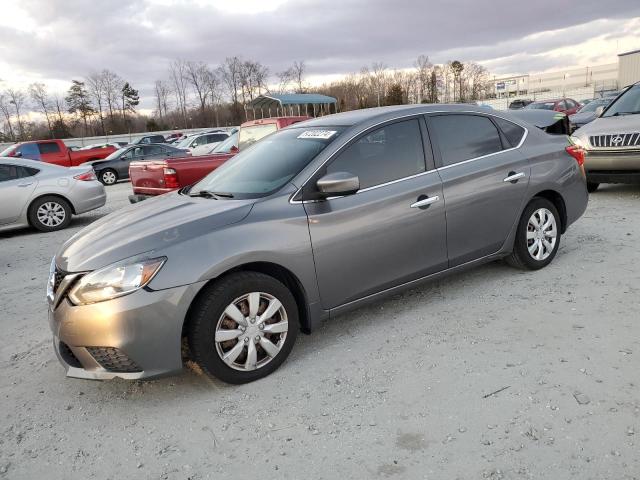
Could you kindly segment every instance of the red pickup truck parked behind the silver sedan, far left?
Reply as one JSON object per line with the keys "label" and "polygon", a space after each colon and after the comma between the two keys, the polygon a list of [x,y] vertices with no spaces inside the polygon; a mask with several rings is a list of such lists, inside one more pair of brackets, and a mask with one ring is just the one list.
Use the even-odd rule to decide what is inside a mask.
{"label": "red pickup truck parked behind the silver sedan, far left", "polygon": [[71,150],[62,140],[37,140],[11,145],[0,153],[0,157],[19,157],[53,163],[62,167],[77,167],[90,160],[100,160],[115,152],[111,145],[90,150]]}

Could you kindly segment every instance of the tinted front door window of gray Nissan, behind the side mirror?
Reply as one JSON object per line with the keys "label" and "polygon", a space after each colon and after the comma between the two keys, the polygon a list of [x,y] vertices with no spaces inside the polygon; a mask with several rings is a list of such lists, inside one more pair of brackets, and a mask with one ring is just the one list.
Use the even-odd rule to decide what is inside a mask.
{"label": "tinted front door window of gray Nissan, behind the side mirror", "polygon": [[357,175],[360,188],[410,177],[425,170],[422,135],[416,119],[392,123],[364,135],[327,167],[327,173]]}

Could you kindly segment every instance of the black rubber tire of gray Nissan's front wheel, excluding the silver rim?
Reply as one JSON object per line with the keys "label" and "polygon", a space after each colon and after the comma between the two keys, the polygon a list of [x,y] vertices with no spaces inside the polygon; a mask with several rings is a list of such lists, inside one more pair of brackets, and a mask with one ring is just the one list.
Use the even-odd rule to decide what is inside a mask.
{"label": "black rubber tire of gray Nissan's front wheel, excluding the silver rim", "polygon": [[[289,356],[300,323],[298,308],[291,291],[273,277],[257,272],[237,272],[205,287],[190,315],[187,340],[192,359],[208,374],[231,383],[248,383],[274,372]],[[223,311],[236,298],[249,292],[265,292],[276,297],[287,312],[289,330],[280,353],[264,367],[250,372],[234,370],[218,355],[215,329]]]}

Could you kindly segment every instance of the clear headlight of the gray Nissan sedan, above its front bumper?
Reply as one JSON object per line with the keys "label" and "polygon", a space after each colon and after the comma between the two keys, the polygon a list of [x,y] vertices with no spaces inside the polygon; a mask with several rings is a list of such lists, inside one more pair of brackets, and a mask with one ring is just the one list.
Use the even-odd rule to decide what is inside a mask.
{"label": "clear headlight of the gray Nissan sedan, above its front bumper", "polygon": [[69,299],[75,305],[86,305],[133,293],[148,284],[166,260],[126,260],[91,272],[71,289]]}

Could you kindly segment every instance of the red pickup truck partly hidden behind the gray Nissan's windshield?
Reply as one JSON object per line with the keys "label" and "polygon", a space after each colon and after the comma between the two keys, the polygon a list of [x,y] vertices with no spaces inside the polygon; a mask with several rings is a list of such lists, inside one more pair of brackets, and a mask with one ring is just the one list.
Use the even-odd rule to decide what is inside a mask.
{"label": "red pickup truck partly hidden behind the gray Nissan's windshield", "polygon": [[129,177],[131,178],[133,195],[129,195],[129,201],[136,203],[147,197],[162,195],[171,190],[191,185],[218,168],[243,148],[247,148],[276,130],[309,118],[271,117],[251,120],[240,125],[238,132],[219,143],[209,155],[131,162]]}

